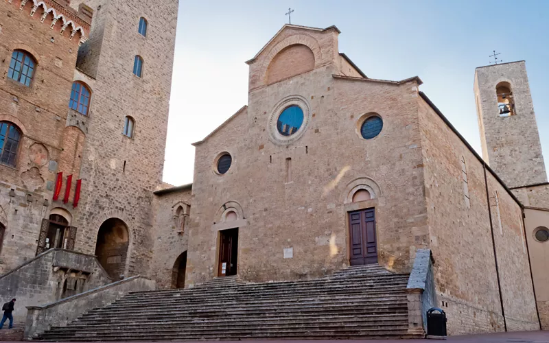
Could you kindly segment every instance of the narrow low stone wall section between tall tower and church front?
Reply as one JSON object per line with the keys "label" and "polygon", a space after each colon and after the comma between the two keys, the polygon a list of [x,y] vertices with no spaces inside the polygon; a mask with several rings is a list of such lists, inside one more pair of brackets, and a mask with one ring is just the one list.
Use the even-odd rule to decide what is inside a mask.
{"label": "narrow low stone wall section between tall tower and church front", "polygon": [[172,269],[176,259],[187,250],[189,217],[183,232],[179,218],[174,217],[179,205],[191,203],[191,189],[175,191],[154,197],[154,253],[150,276],[159,288],[172,287]]}

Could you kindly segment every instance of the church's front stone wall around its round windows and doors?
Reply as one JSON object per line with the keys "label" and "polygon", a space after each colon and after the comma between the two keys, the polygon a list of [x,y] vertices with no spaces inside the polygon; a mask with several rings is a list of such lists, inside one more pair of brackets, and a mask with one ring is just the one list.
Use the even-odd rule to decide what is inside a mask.
{"label": "church's front stone wall around its round windows and doors", "polygon": [[[382,265],[408,270],[416,248],[429,244],[417,82],[335,79],[337,32],[301,30],[286,27],[248,61],[248,108],[196,143],[189,285],[217,275],[218,235],[224,228],[239,228],[238,274],[254,281],[314,278],[348,265],[347,212],[356,209],[375,207]],[[274,51],[296,42],[313,51],[315,69],[261,84],[259,75]],[[268,123],[277,104],[292,96],[307,103],[310,121],[301,138],[279,144],[270,139]],[[367,113],[384,120],[379,137],[369,141],[359,133]],[[220,175],[215,158],[222,152],[233,162]],[[358,180],[367,180],[377,193],[373,200],[349,204]],[[223,222],[222,206],[228,202],[239,211],[236,222]],[[291,250],[292,258],[284,258],[284,250]]]}

